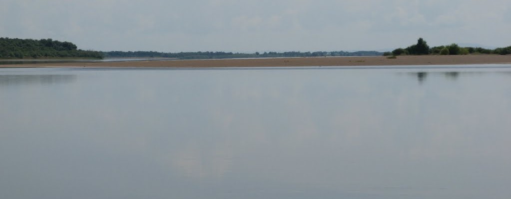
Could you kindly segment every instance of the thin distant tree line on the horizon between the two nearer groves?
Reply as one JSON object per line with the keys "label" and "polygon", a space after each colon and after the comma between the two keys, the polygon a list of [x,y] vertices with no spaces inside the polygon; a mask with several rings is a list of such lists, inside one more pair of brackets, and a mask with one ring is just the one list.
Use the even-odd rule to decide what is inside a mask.
{"label": "thin distant tree line on the horizon between the two nearer groves", "polygon": [[282,58],[282,57],[312,57],[312,56],[380,56],[383,53],[377,51],[317,51],[317,52],[255,52],[255,53],[233,53],[233,52],[155,52],[155,51],[109,51],[103,52],[108,58],[129,58],[129,57],[154,57],[154,58],[175,58],[175,59],[237,59],[237,58]]}

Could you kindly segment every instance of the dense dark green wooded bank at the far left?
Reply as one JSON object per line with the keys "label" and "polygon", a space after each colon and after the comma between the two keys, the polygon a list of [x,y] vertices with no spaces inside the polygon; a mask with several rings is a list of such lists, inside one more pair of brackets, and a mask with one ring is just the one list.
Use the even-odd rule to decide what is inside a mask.
{"label": "dense dark green wooded bank at the far left", "polygon": [[0,38],[0,58],[97,58],[103,53],[92,50],[80,50],[71,42],[52,39],[10,39]]}

